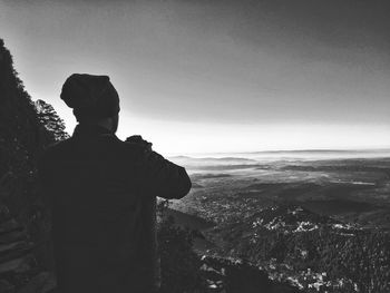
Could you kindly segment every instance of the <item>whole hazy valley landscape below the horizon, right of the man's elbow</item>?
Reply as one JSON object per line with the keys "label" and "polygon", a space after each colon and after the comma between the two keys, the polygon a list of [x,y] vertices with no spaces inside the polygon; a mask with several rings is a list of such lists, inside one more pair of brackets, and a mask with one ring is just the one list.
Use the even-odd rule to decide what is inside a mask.
{"label": "whole hazy valley landscape below the horizon, right of the man's elbow", "polygon": [[[390,291],[390,155],[292,152],[174,157],[174,201],[198,254],[250,262],[305,292]],[[181,219],[182,218],[182,219]],[[205,224],[206,223],[206,224]]]}

